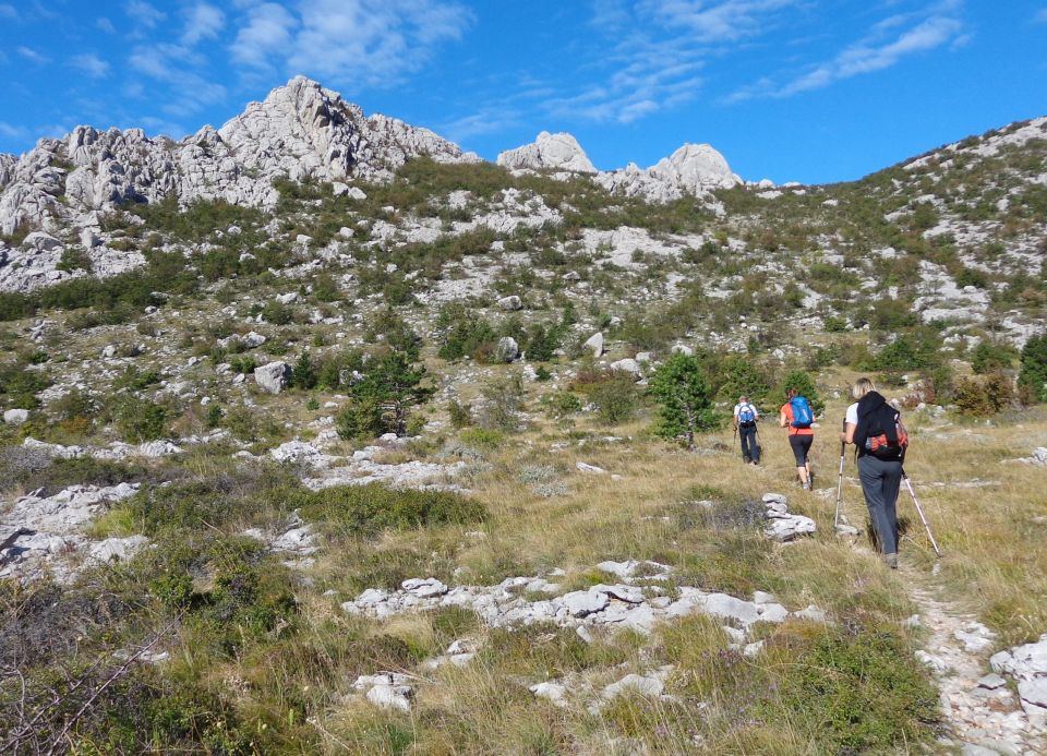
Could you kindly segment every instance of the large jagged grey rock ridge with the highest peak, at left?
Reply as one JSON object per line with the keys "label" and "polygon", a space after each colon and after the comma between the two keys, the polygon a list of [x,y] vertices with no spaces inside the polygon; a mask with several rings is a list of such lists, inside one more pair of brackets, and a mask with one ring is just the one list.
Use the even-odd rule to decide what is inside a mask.
{"label": "large jagged grey rock ridge with the highest peak, at left", "polygon": [[0,233],[22,224],[48,230],[58,220],[86,226],[92,211],[156,202],[171,192],[182,202],[270,205],[275,177],[382,179],[420,155],[479,160],[426,129],[365,117],[299,76],[221,129],[204,127],[180,142],[149,139],[141,129],[77,127],[65,139],[40,140],[21,158],[0,156]]}

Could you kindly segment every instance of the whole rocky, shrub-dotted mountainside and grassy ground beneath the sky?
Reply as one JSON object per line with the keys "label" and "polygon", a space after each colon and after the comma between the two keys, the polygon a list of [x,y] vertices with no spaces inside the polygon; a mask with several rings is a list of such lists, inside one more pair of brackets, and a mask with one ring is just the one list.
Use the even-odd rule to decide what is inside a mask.
{"label": "whole rocky, shrub-dotted mountainside and grassy ground beneath the sky", "polygon": [[[774,187],[297,79],[0,156],[0,749],[1042,751],[1045,130]],[[834,528],[861,374],[941,560]]]}

